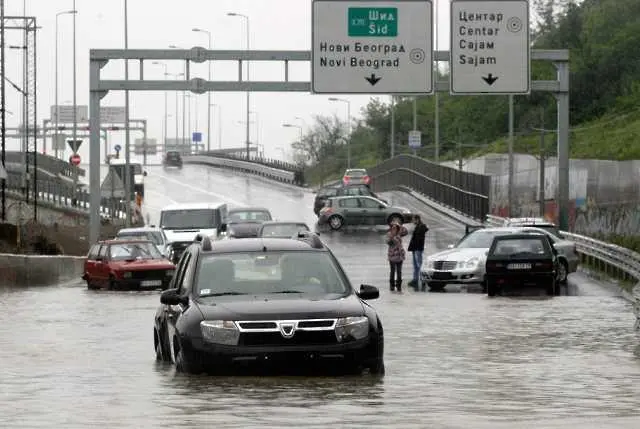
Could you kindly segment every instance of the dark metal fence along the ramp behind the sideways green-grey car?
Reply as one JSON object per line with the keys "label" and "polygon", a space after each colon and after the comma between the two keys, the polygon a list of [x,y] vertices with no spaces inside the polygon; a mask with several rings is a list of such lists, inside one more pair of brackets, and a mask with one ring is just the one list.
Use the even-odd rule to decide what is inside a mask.
{"label": "dark metal fence along the ramp behind the sideways green-grey car", "polygon": [[410,188],[474,219],[489,213],[490,177],[465,173],[411,155],[399,155],[368,169],[376,192]]}

